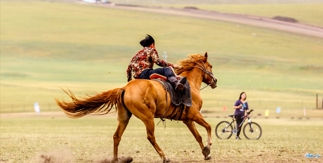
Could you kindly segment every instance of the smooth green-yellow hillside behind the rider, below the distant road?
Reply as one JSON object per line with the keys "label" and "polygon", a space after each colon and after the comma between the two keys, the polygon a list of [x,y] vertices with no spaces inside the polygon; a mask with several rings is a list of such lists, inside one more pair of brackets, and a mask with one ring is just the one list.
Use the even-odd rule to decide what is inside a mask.
{"label": "smooth green-yellow hillside behind the rider, below the distant road", "polygon": [[[281,106],[282,117],[296,117],[304,106],[315,108],[316,94],[322,99],[319,38],[73,3],[0,3],[0,113],[32,112],[35,102],[41,111],[59,111],[54,98],[69,101],[59,87],[77,96],[123,87],[128,63],[146,33],[171,63],[208,52],[219,82],[217,89],[201,92],[205,110],[231,114],[222,113],[222,107],[231,108],[245,91],[259,113]],[[322,115],[315,110],[308,116]]]}

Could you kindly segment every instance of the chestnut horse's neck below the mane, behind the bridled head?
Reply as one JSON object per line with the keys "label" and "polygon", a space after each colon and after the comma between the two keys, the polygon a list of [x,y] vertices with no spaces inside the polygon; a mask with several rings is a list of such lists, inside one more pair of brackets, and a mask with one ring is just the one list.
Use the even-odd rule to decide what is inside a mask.
{"label": "chestnut horse's neck below the mane, behind the bridled head", "polygon": [[190,72],[183,72],[180,75],[186,76],[187,80],[190,83],[191,89],[195,89],[196,91],[200,92],[201,85],[202,85],[202,74],[200,69],[194,68]]}

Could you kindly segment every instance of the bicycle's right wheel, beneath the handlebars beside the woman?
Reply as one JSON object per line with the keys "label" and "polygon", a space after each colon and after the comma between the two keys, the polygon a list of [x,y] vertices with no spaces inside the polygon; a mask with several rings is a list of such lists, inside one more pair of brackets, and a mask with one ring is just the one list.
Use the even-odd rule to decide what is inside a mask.
{"label": "bicycle's right wheel, beneath the handlebars beside the woman", "polygon": [[248,122],[243,127],[243,134],[247,139],[256,140],[261,136],[261,127],[255,122]]}

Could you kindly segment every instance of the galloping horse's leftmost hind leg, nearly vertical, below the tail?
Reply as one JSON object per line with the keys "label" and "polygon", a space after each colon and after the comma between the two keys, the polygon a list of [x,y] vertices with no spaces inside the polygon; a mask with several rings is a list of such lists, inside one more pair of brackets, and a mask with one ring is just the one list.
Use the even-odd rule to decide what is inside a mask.
{"label": "galloping horse's leftmost hind leg, nearly vertical, below the tail", "polygon": [[[118,127],[117,130],[113,136],[113,146],[114,146],[114,150],[113,150],[113,161],[114,162],[119,162],[118,160],[118,146],[121,140],[121,136],[123,134],[123,132],[125,131],[128,123],[129,123],[129,119],[131,118],[131,112],[129,112],[128,109],[124,108],[124,107],[120,107],[118,108]],[[126,162],[131,162],[131,160],[128,160]]]}

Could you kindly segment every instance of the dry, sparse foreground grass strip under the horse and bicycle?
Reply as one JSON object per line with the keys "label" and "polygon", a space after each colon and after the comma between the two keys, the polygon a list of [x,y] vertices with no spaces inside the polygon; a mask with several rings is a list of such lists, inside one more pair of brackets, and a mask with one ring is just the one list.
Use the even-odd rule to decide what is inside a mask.
{"label": "dry, sparse foreground grass strip under the horse and bicycle", "polygon": [[[214,134],[216,125],[228,118],[206,118],[212,127],[211,155],[208,162],[320,162],[321,158],[304,158],[305,153],[323,155],[321,119],[252,119],[260,124],[258,140],[234,137],[220,140]],[[155,119],[155,124],[159,120]],[[113,155],[116,117],[86,116],[69,119],[62,116],[25,118],[1,117],[1,159],[6,162],[35,161],[40,154],[70,160],[95,162]],[[206,143],[206,131],[196,125]],[[156,141],[174,162],[205,162],[200,147],[187,127],[167,120],[166,129],[159,124]],[[233,135],[235,136],[235,135]],[[194,152],[192,152],[194,151]],[[57,154],[55,154],[57,153]],[[146,139],[144,124],[132,117],[119,145],[119,156],[131,156],[133,162],[160,162],[158,154]]]}

